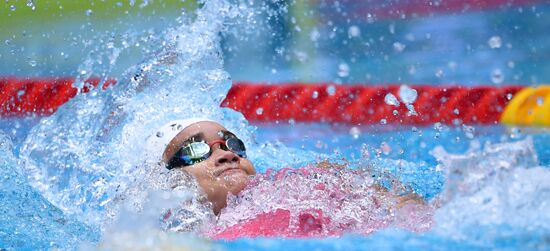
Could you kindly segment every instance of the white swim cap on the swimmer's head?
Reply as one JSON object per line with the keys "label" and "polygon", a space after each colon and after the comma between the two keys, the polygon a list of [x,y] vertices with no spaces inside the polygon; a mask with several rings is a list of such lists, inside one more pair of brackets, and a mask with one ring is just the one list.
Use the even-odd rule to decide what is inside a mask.
{"label": "white swim cap on the swimmer's head", "polygon": [[190,118],[166,123],[147,138],[145,154],[156,162],[162,162],[162,155],[170,141],[188,126],[202,121],[216,122],[206,118]]}

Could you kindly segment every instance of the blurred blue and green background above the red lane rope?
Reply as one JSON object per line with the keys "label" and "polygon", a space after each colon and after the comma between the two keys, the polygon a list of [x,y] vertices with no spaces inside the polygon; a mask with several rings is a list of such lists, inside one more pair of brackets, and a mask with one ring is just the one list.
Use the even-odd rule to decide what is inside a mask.
{"label": "blurred blue and green background above the red lane rope", "polygon": [[[250,4],[247,1],[248,4]],[[236,5],[243,4],[238,1]],[[193,0],[6,0],[0,76],[78,76],[100,59],[120,77],[192,18]],[[260,1],[227,23],[236,81],[536,85],[550,82],[545,0]],[[97,62],[96,62],[97,63]],[[109,65],[110,64],[110,65]],[[101,76],[100,76],[101,77]]]}

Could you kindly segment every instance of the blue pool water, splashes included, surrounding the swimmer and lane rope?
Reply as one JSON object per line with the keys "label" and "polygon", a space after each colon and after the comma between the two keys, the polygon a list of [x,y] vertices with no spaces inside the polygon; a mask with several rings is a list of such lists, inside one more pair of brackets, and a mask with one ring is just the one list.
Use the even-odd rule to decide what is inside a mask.
{"label": "blue pool water, splashes included, surrounding the swimmer and lane rope", "polygon": [[[240,57],[249,58],[250,53],[263,46],[251,47],[248,52],[243,50],[241,47],[254,43],[246,39],[246,34],[259,36],[263,33],[250,34],[242,27],[257,23],[276,24],[277,18],[286,13],[284,8],[270,16],[256,13],[257,9],[246,3],[205,2],[195,19],[182,18],[180,26],[174,25],[155,34],[149,40],[150,44],[142,41],[145,47],[157,47],[156,52],[143,62],[124,69],[126,73],[120,75],[116,86],[79,95],[48,118],[0,119],[0,249],[547,250],[550,244],[550,132],[547,129],[498,125],[448,127],[438,123],[426,127],[250,125],[237,112],[219,108],[232,79],[425,81],[432,84],[487,81],[500,84],[498,76],[492,74],[494,69],[499,68],[506,76],[511,76],[506,81],[531,83],[548,80],[550,78],[544,70],[548,64],[540,63],[544,62],[541,58],[548,55],[545,43],[547,34],[541,32],[548,25],[545,22],[548,6],[534,6],[521,11],[505,8],[463,14],[471,22],[483,20],[487,23],[487,18],[504,22],[508,14],[515,13],[517,18],[509,22],[514,25],[525,22],[532,26],[510,33],[503,33],[502,30],[507,28],[497,25],[479,34],[467,29],[468,21],[455,27],[456,30],[446,30],[447,26],[434,27],[429,21],[449,25],[458,17],[435,15],[427,19],[412,19],[411,23],[391,20],[380,20],[374,24],[367,22],[356,27],[365,35],[361,41],[348,38],[349,26],[338,24],[338,32],[334,36],[339,38],[336,40],[339,42],[334,45],[323,40],[326,39],[323,34],[330,29],[319,28],[322,39],[317,46],[338,47],[340,50],[332,55],[329,51],[318,49],[315,53],[318,58],[312,65],[333,71],[326,74],[318,71],[320,74],[313,76],[312,69],[302,68],[308,62],[301,61],[305,59],[300,50],[306,49],[300,47],[302,45],[294,47],[292,52],[275,54],[271,59],[263,54],[253,58],[250,62],[254,63],[248,62],[251,64],[249,69],[244,68],[248,63],[235,64]],[[323,11],[320,10],[320,13]],[[266,16],[273,19],[265,20]],[[346,23],[345,19],[338,20]],[[421,24],[416,25],[416,22]],[[400,28],[409,25],[413,31],[421,30],[418,32],[424,39],[411,40],[405,31],[407,29]],[[368,33],[370,29],[372,33]],[[392,29],[395,29],[394,32],[391,32]],[[443,31],[454,35],[461,34],[460,31],[475,34],[456,40]],[[395,51],[393,40],[383,43],[381,37],[389,36],[386,32],[397,33],[396,37],[402,35],[403,41],[410,42],[408,49],[399,51],[401,47],[397,44]],[[220,36],[220,33],[223,35]],[[426,40],[428,33],[432,34],[435,44]],[[524,33],[536,39],[522,43],[518,37]],[[330,37],[328,33],[325,35]],[[360,51],[358,47],[344,46],[355,42],[356,46],[365,45],[372,39],[369,36],[375,37],[374,40],[384,46],[361,55],[354,55]],[[412,36],[418,38],[419,35],[412,32]],[[506,47],[505,42],[504,47],[487,48],[487,40],[493,36],[513,41],[512,47]],[[231,46],[232,40],[237,41],[237,46]],[[285,41],[275,39],[266,46],[281,51],[281,46],[290,48],[284,46]],[[461,49],[449,52],[439,47],[453,41],[459,44],[453,48]],[[468,48],[468,45],[478,49],[463,54],[463,46]],[[434,54],[426,52],[434,48]],[[505,48],[506,53],[501,53]],[[525,53],[532,51],[531,48],[535,48],[537,53]],[[451,61],[434,59],[442,58],[440,55],[447,52],[455,57],[451,61],[456,65],[449,64]],[[116,60],[109,61],[112,59],[108,57],[112,55],[110,53],[111,50],[106,50],[99,55],[90,55],[75,70],[75,75],[84,78],[91,73],[105,76],[120,73],[119,68],[123,66]],[[420,56],[414,57],[415,54]],[[425,55],[431,56],[425,58]],[[494,55],[497,56],[492,57]],[[290,58],[287,60],[286,56]],[[324,60],[326,57],[336,60]],[[105,58],[107,61],[104,61]],[[349,60],[346,65],[351,71],[346,71],[342,58]],[[399,66],[404,58],[415,62]],[[482,73],[472,70],[487,61],[494,65],[482,68]],[[508,64],[508,61],[514,64]],[[289,65],[301,70],[293,71]],[[416,69],[413,73],[411,65]],[[444,68],[443,73],[439,74],[438,68],[441,67]],[[504,70],[502,67],[508,68]],[[367,70],[361,72],[353,69]],[[393,74],[391,69],[396,69],[396,73]],[[66,71],[71,70],[63,70]],[[136,72],[140,73],[137,77]],[[514,77],[516,75],[517,78]],[[422,196],[434,208],[433,217],[430,216],[434,224],[426,232],[412,232],[399,227],[406,225],[408,219],[405,218],[396,220],[388,227],[375,229],[369,235],[352,231],[341,238],[324,239],[245,238],[224,241],[209,240],[196,236],[197,233],[164,232],[158,226],[160,212],[176,207],[180,201],[194,203],[189,199],[194,198],[194,191],[166,191],[163,175],[169,174],[151,165],[151,160],[144,153],[145,138],[169,120],[197,114],[220,121],[243,139],[249,158],[260,173],[258,176],[268,169],[303,167],[327,159],[346,165],[349,168],[346,170],[368,167],[369,170],[388,174],[377,180],[381,185],[390,186],[393,183],[386,177],[396,177]],[[357,180],[369,177],[361,174],[353,176]],[[281,190],[289,191],[289,199],[303,193],[293,191],[292,183],[283,184],[286,187]],[[298,185],[303,184],[294,185],[302,187]],[[252,192],[257,191],[255,188]],[[283,192],[274,191],[273,194]],[[352,192],[360,194],[362,191]],[[276,207],[270,204],[272,199],[267,194],[247,203],[260,205],[260,208]],[[200,206],[193,203],[189,211],[195,208],[198,211],[193,211],[197,214],[192,218],[208,224],[209,215],[201,215]],[[287,202],[283,200],[282,203]],[[361,203],[363,201],[357,201],[348,208],[369,206]],[[227,216],[224,215],[225,218],[220,221],[231,222],[232,217],[242,216],[238,209],[239,205],[230,205]],[[249,209],[258,210],[254,206]],[[346,216],[349,212],[345,209],[328,213]],[[364,230],[360,227],[361,224],[357,229]]]}

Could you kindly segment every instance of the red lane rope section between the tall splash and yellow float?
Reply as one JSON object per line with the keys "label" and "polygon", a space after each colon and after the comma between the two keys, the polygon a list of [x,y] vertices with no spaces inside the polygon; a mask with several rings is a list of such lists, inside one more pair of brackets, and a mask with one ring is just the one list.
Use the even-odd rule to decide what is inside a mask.
{"label": "red lane rope section between the tall splash and yellow float", "polygon": [[330,122],[346,124],[496,124],[522,86],[412,86],[417,115],[405,104],[388,105],[388,93],[398,97],[399,85],[235,84],[222,106],[240,111],[252,122]]}

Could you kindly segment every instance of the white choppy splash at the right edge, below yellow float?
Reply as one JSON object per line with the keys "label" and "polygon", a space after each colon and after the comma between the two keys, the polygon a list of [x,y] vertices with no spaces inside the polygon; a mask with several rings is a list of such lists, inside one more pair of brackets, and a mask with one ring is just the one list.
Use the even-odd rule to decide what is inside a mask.
{"label": "white choppy splash at the right edge, below yellow float", "polygon": [[437,148],[434,155],[447,173],[435,233],[485,245],[517,236],[518,245],[533,247],[545,238],[541,233],[550,231],[550,213],[544,209],[550,171],[538,166],[531,138],[474,145],[463,155]]}

